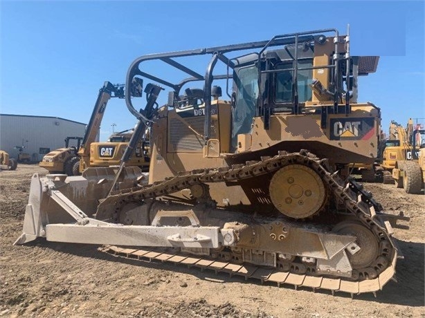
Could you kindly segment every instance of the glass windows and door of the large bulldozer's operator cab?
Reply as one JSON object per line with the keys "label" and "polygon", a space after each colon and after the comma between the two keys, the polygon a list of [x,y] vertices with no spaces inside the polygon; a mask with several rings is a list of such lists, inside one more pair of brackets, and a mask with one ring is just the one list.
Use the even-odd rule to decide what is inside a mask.
{"label": "glass windows and door of the large bulldozer's operator cab", "polygon": [[[260,60],[262,88],[259,85],[258,56],[246,55],[235,59],[239,65],[233,72],[233,107],[232,145],[236,147],[237,135],[251,132],[253,118],[264,115],[265,111],[293,113],[295,90],[293,74],[298,69],[298,103],[302,106],[311,101],[313,80],[314,46],[304,43],[298,46],[297,66],[295,66],[295,46],[271,50],[264,53]],[[262,96],[260,96],[260,91]]]}

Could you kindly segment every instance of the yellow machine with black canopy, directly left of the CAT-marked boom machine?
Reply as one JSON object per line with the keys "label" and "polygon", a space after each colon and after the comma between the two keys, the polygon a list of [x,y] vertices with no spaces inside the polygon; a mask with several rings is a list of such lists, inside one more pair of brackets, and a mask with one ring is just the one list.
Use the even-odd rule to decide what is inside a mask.
{"label": "yellow machine with black canopy, directly left of the CAT-marked boom machine", "polygon": [[[65,147],[55,149],[47,153],[42,161],[39,162],[39,166],[48,170],[50,174],[67,174],[68,176],[78,176],[80,171],[78,171],[78,166],[75,165],[76,162],[80,161],[78,156],[78,149],[80,149],[80,144],[82,137],[66,137],[65,138]],[[75,140],[76,145],[70,146],[70,141]]]}

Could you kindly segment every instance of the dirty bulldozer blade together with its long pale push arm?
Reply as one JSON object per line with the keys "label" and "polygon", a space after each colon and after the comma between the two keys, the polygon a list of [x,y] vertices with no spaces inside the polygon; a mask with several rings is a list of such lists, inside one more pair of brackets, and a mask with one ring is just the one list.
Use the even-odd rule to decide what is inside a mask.
{"label": "dirty bulldozer blade together with its long pale push arm", "polygon": [[[143,174],[125,167],[120,189],[137,185]],[[218,248],[224,244],[219,227],[163,227],[121,225],[96,220],[98,202],[109,192],[114,174],[96,168],[82,176],[62,174],[31,180],[23,234],[15,245],[45,237],[47,241],[88,244],[148,245],[161,247]],[[199,224],[198,224],[199,225]],[[231,231],[225,231],[227,236]],[[233,239],[234,241],[234,239]]]}

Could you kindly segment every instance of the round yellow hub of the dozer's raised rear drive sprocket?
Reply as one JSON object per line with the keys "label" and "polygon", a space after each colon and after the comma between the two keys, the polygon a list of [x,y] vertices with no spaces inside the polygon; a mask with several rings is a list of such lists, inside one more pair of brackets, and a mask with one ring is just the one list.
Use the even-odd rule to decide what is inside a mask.
{"label": "round yellow hub of the dozer's raised rear drive sprocket", "polygon": [[323,180],[305,165],[278,170],[269,185],[271,202],[285,216],[307,218],[318,213],[327,200]]}

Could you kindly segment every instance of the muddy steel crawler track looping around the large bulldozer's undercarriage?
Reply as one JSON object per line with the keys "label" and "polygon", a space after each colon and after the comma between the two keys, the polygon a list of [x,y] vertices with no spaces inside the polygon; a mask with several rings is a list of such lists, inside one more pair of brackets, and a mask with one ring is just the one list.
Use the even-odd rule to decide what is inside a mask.
{"label": "muddy steel crawler track looping around the large bulldozer's undercarriage", "polygon": [[[382,207],[372,195],[363,191],[361,185],[350,181],[343,182],[337,174],[333,174],[327,160],[320,160],[308,151],[287,153],[280,151],[277,156],[262,158],[260,161],[246,162],[246,165],[233,165],[228,168],[201,169],[189,171],[179,176],[168,178],[159,183],[124,189],[114,192],[106,198],[98,208],[98,215],[119,213],[121,207],[129,202],[140,201],[166,196],[190,185],[199,183],[217,183],[237,181],[264,174],[273,174],[278,169],[291,164],[306,165],[314,169],[330,190],[332,197],[338,202],[338,211],[343,211],[356,218],[374,234],[379,242],[379,255],[368,267],[353,270],[352,277],[327,277],[309,268],[299,270],[298,263],[281,264],[276,268],[264,268],[251,264],[232,263],[231,252],[210,256],[189,256],[179,252],[172,253],[164,250],[150,249],[133,250],[115,246],[102,247],[103,252],[109,252],[132,259],[168,261],[181,263],[197,268],[215,270],[215,272],[229,272],[230,275],[242,275],[246,279],[254,278],[263,281],[283,283],[293,286],[304,286],[315,289],[325,289],[350,294],[376,292],[394,276],[397,262],[397,249],[392,242],[390,223],[385,221],[381,212]],[[111,210],[113,209],[113,211]],[[109,212],[107,212],[109,210]],[[229,261],[230,260],[230,261]]]}

